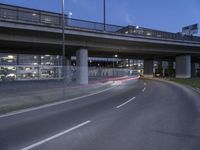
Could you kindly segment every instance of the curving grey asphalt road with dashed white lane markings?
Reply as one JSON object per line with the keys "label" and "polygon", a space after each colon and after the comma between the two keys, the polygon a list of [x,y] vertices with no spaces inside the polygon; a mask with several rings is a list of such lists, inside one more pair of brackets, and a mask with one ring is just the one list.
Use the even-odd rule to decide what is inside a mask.
{"label": "curving grey asphalt road with dashed white lane markings", "polygon": [[0,117],[0,150],[200,150],[200,95],[154,80]]}

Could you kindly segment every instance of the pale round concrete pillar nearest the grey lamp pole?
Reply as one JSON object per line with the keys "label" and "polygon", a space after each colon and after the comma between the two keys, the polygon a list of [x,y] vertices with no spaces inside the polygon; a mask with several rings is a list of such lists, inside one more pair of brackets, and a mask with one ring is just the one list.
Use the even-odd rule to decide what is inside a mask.
{"label": "pale round concrete pillar nearest the grey lamp pole", "polygon": [[88,50],[81,48],[76,52],[77,83],[88,84]]}

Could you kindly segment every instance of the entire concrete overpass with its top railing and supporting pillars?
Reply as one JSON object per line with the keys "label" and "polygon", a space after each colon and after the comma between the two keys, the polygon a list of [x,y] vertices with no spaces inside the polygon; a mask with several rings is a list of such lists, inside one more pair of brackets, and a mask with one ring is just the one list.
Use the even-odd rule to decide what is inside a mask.
{"label": "entire concrete overpass with its top railing and supporting pillars", "polygon": [[[0,53],[59,54],[62,16],[58,13],[0,4]],[[88,55],[144,59],[144,75],[153,60],[175,60],[176,77],[190,78],[200,60],[200,37],[138,26],[116,26],[65,17],[66,57],[76,55],[80,83],[87,83]],[[85,77],[85,78],[82,78]]]}

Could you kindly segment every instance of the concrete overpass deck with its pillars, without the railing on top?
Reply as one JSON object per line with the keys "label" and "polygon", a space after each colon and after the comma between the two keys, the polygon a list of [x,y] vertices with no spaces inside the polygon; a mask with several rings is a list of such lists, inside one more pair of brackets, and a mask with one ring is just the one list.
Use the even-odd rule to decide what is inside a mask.
{"label": "concrete overpass deck with its pillars, without the railing on top", "polygon": [[[28,26],[28,25],[27,25]],[[60,29],[0,27],[0,53],[62,56]],[[50,30],[50,31],[49,31]],[[184,41],[133,38],[85,30],[66,30],[66,59],[76,56],[80,83],[87,83],[88,56],[144,60],[144,75],[153,76],[153,61],[176,62],[176,77],[190,78],[200,63],[200,44]],[[192,70],[192,71],[191,71]]]}

